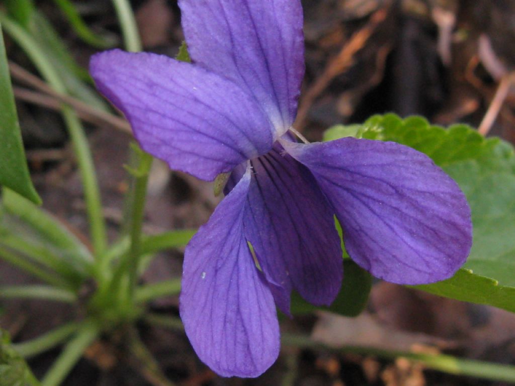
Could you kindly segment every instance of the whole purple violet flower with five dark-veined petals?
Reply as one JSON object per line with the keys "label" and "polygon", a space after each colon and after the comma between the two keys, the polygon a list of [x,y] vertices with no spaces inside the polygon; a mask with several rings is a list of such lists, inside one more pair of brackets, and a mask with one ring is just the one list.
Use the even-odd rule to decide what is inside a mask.
{"label": "whole purple violet flower with five dark-veined petals", "polygon": [[469,206],[427,156],[289,136],[304,75],[300,0],[179,6],[193,64],[111,50],[90,70],[144,150],[203,180],[231,173],[184,254],[180,314],[202,361],[222,376],[258,376],[279,353],[276,305],[288,313],[292,289],[315,305],[334,300],[334,215],[349,255],[389,282],[432,283],[464,264]]}

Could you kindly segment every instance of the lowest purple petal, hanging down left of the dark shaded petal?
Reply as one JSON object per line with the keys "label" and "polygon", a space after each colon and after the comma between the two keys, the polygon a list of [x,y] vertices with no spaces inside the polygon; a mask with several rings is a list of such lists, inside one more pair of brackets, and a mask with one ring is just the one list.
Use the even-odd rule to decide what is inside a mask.
{"label": "lowest purple petal, hanging down left of the dark shaded petal", "polygon": [[279,324],[243,235],[250,172],[184,254],[180,314],[199,358],[222,376],[256,377],[277,359]]}

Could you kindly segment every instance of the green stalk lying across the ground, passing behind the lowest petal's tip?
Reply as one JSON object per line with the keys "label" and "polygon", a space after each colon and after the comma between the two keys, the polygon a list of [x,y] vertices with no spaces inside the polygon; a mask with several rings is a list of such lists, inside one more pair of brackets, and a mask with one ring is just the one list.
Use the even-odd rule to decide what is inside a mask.
{"label": "green stalk lying across the ground, passing behind the lowest petal's tip", "polygon": [[[184,326],[179,318],[150,313],[146,315],[145,321],[150,324],[171,328],[177,331],[184,330]],[[461,359],[444,354],[414,353],[366,346],[343,346],[333,348],[316,342],[310,337],[293,334],[282,334],[281,342],[284,345],[295,347],[323,348],[334,352],[366,355],[384,359],[406,358],[414,362],[421,363],[428,369],[444,373],[489,379],[493,381],[515,382],[515,366],[513,365]]]}

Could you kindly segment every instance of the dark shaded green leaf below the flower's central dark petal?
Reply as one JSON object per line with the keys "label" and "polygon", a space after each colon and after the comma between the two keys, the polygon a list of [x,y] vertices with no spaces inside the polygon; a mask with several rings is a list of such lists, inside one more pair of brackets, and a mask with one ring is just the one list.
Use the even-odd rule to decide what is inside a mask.
{"label": "dark shaded green leaf below the flower's central dark petal", "polygon": [[367,305],[371,287],[372,276],[354,261],[345,259],[344,281],[341,284],[340,292],[330,307],[316,307],[307,303],[297,292],[293,292],[291,293],[290,311],[292,314],[300,314],[322,309],[348,317],[355,317]]}

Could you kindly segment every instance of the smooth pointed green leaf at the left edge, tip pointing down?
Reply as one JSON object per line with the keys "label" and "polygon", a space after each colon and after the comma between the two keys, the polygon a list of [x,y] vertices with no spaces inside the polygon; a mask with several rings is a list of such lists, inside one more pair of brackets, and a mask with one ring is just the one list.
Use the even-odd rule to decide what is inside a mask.
{"label": "smooth pointed green leaf at the left edge, tip pointing down", "polygon": [[9,66],[0,25],[0,184],[11,188],[36,204],[41,199],[30,181],[22,135],[12,94]]}

